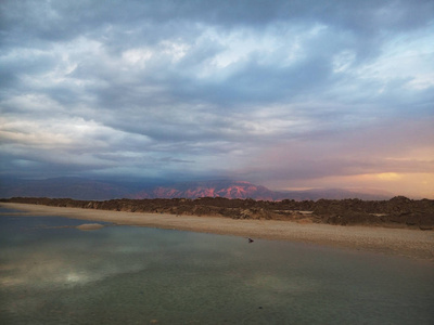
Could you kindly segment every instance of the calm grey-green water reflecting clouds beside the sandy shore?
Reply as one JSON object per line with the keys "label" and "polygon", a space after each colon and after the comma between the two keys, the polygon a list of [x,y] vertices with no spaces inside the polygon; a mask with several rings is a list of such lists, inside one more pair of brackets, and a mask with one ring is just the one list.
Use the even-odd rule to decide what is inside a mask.
{"label": "calm grey-green water reflecting clouds beside the sandy shore", "polygon": [[426,262],[1,212],[0,324],[434,324]]}

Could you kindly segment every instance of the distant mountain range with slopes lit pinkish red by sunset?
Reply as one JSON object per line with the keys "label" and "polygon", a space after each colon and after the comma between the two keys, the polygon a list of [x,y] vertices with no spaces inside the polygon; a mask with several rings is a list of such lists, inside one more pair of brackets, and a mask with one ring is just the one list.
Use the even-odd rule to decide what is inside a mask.
{"label": "distant mountain range with slopes lit pinkish red by sunset", "polygon": [[140,182],[98,181],[81,178],[55,178],[46,180],[0,179],[0,197],[68,197],[74,199],[104,200],[113,198],[197,198],[227,197],[256,200],[317,200],[360,198],[365,200],[390,199],[393,194],[358,192],[342,188],[315,188],[306,191],[271,191],[245,181],[201,181],[167,185],[150,185]]}

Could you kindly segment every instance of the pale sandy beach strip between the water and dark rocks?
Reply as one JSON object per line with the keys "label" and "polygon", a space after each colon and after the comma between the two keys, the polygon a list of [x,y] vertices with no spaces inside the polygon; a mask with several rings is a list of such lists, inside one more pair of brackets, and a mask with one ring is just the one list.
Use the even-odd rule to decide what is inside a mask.
{"label": "pale sandy beach strip between the water and dark rocks", "polygon": [[369,226],[341,226],[277,220],[233,220],[221,217],[174,216],[59,208],[1,203],[0,206],[27,211],[17,216],[58,216],[149,227],[304,242],[349,249],[399,255],[434,262],[434,232]]}

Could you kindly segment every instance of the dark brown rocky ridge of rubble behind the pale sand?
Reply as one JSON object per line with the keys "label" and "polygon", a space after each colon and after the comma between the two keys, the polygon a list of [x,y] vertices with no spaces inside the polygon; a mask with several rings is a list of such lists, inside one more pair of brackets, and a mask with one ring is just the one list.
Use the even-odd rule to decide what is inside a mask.
{"label": "dark brown rocky ridge of rubble behind the pale sand", "polygon": [[4,203],[176,216],[216,216],[231,219],[288,220],[302,223],[434,229],[434,200],[397,196],[390,200],[319,199],[281,202],[203,197],[197,199],[111,199],[13,197]]}

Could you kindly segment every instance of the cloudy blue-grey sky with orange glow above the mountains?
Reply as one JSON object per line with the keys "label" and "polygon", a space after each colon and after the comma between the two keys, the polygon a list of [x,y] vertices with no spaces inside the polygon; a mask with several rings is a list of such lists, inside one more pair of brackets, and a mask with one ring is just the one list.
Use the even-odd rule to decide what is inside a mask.
{"label": "cloudy blue-grey sky with orange glow above the mountains", "polygon": [[2,0],[0,178],[434,198],[434,1]]}

